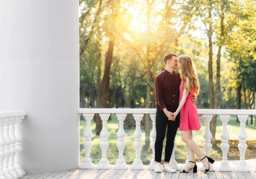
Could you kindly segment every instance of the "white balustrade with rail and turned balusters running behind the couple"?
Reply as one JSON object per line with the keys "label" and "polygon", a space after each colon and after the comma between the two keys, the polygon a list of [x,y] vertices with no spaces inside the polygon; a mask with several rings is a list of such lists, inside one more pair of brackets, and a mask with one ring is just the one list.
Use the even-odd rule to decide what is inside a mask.
{"label": "white balustrade with rail and turned balusters running behind the couple", "polygon": [[[109,162],[108,162],[107,155],[106,155],[106,151],[108,148],[108,136],[109,136],[108,130],[107,130],[107,121],[110,116],[110,113],[116,113],[116,116],[119,120],[119,129],[116,134],[117,138],[118,138],[118,142],[116,145],[119,150],[119,158],[116,161],[116,165],[114,166],[114,169],[127,169],[127,165],[125,163],[125,159],[123,156],[123,151],[125,148],[125,141],[124,141],[125,130],[123,128],[123,122],[125,120],[126,114],[132,113],[134,116],[134,120],[136,121],[136,129],[134,131],[134,138],[135,138],[134,139],[135,140],[134,141],[134,149],[135,149],[136,155],[135,155],[134,162],[131,166],[131,169],[132,170],[133,169],[135,169],[135,170],[143,170],[144,169],[142,160],[140,159],[140,150],[142,148],[142,142],[141,142],[142,132],[141,132],[141,128],[140,128],[140,122],[143,118],[143,114],[150,114],[151,121],[153,124],[153,128],[152,128],[152,131],[150,134],[150,136],[151,136],[150,146],[152,149],[153,156],[152,156],[151,162],[149,164],[148,170],[154,170],[155,164],[156,164],[156,162],[154,161],[154,159],[155,159],[154,158],[155,157],[154,144],[155,144],[155,140],[156,140],[155,109],[123,109],[123,108],[122,109],[79,109],[79,113],[83,113],[84,116],[87,116],[87,119],[86,119],[87,120],[87,128],[86,128],[86,131],[84,132],[84,136],[86,138],[85,139],[86,142],[84,142],[84,148],[86,148],[86,150],[85,150],[86,151],[86,155],[85,155],[86,159],[83,160],[83,162],[81,163],[81,166],[85,166],[85,163],[86,163],[86,166],[88,166],[88,164],[90,164],[90,166],[92,166],[92,163],[90,160],[90,154],[89,154],[90,147],[92,145],[91,138],[90,138],[92,136],[92,132],[90,129],[90,121],[93,117],[93,113],[99,113],[99,111],[102,113],[102,114],[100,114],[100,116],[103,121],[103,127],[102,127],[102,131],[101,131],[102,141],[100,143],[100,146],[102,148],[102,159],[97,168],[101,168],[101,169],[109,168]],[[203,119],[205,121],[205,131],[204,131],[204,135],[203,135],[203,138],[204,138],[203,147],[204,147],[206,156],[209,156],[210,151],[212,149],[212,144],[211,144],[212,134],[210,132],[210,121],[212,120],[213,115],[220,115],[221,121],[223,123],[222,133],[221,133],[221,139],[222,139],[221,140],[221,150],[222,150],[223,157],[222,157],[221,165],[219,167],[219,171],[232,171],[230,164],[227,160],[227,152],[230,147],[230,145],[228,144],[228,139],[229,139],[230,135],[227,131],[227,126],[228,126],[227,123],[230,119],[230,115],[238,115],[239,121],[241,122],[241,130],[239,133],[240,140],[239,140],[239,145],[238,145],[241,157],[240,157],[240,161],[239,161],[236,171],[242,171],[242,172],[249,171],[249,168],[246,165],[245,160],[244,160],[244,153],[247,149],[247,144],[246,144],[247,135],[245,132],[245,122],[248,118],[248,115],[256,114],[256,110],[198,110],[198,114],[202,114]],[[10,128],[11,128],[11,126],[10,126]],[[3,129],[2,129],[2,132],[3,132]],[[194,135],[193,135],[193,137],[194,137]],[[176,136],[175,136],[175,139],[176,139]],[[0,153],[1,153],[1,151],[3,151],[3,147],[1,149],[2,143],[0,144]],[[175,161],[175,155],[174,155],[176,147],[177,147],[177,144],[175,142],[174,149],[172,152],[172,157],[170,159],[170,165],[172,165],[172,167],[174,167],[176,170],[178,170],[177,162]],[[185,145],[185,147],[186,147],[186,145]],[[1,157],[2,156],[0,156],[0,160],[1,159],[3,160],[3,157],[2,158]],[[11,159],[11,157],[10,157],[10,159]],[[187,163],[188,163],[188,157],[187,157],[184,167],[186,167]],[[0,166],[1,166],[1,162],[0,162]],[[201,170],[204,171],[205,167],[203,166],[201,168]],[[211,171],[214,171],[212,164],[211,164]],[[256,166],[254,168],[254,171],[256,172]],[[2,174],[3,174],[3,171],[2,171]],[[1,175],[1,167],[0,167],[0,175]],[[3,175],[3,176],[5,176],[5,175]],[[0,179],[2,179],[2,178],[3,177],[0,177]]]}

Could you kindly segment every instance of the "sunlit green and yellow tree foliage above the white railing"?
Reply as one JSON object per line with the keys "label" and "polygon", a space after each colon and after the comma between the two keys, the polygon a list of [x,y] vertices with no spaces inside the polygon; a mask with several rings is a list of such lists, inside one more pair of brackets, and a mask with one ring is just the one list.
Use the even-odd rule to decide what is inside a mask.
{"label": "sunlit green and yellow tree foliage above the white railing", "polygon": [[[249,94],[256,85],[255,1],[79,0],[79,4],[80,96],[82,102],[86,100],[87,107],[96,101],[108,42],[114,39],[108,107],[145,107],[148,61],[151,107],[155,107],[154,77],[165,67],[163,56],[175,52],[192,57],[201,83],[197,106],[209,108],[207,35],[210,23],[214,60],[217,44],[223,43],[219,107],[236,108],[236,87],[242,81],[241,76],[245,79],[246,94],[253,99]],[[225,15],[222,38],[221,7]],[[212,18],[209,18],[210,10]],[[213,73],[216,73],[215,63]]]}

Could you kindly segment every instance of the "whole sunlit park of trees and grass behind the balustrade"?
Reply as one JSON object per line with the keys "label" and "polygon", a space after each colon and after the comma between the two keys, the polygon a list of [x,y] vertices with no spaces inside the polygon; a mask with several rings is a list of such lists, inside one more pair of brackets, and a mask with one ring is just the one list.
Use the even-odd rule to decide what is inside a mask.
{"label": "whole sunlit park of trees and grass behind the balustrade", "polygon": [[[256,2],[253,0],[80,0],[80,108],[155,108],[154,77],[163,71],[168,52],[188,55],[195,63],[201,92],[198,109],[256,109]],[[179,69],[175,70],[179,72]],[[202,147],[204,121],[195,131]],[[152,159],[149,115],[142,120],[141,159]],[[84,158],[86,121],[80,118],[80,155]],[[108,120],[111,164],[118,158],[118,120]],[[125,119],[124,158],[133,162],[135,121]],[[102,121],[92,122],[93,146],[90,158],[101,158],[99,133]],[[256,116],[246,122],[246,159],[256,158]],[[212,118],[213,148],[210,155],[221,160],[222,122]],[[232,116],[228,123],[228,159],[239,159],[240,122]],[[177,133],[175,159],[186,160],[186,149]],[[163,151],[164,153],[164,151]],[[80,159],[80,161],[81,161]]]}

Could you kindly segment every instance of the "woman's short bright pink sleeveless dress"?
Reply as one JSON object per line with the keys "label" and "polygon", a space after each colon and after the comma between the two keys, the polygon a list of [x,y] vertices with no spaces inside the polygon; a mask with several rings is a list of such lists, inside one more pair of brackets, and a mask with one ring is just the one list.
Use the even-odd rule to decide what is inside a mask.
{"label": "woman's short bright pink sleeveless dress", "polygon": [[[182,83],[183,81],[180,83],[180,101],[184,90]],[[192,97],[191,92],[189,92],[185,104],[180,110],[180,130],[200,130],[201,128],[195,103],[191,101],[190,97]]]}

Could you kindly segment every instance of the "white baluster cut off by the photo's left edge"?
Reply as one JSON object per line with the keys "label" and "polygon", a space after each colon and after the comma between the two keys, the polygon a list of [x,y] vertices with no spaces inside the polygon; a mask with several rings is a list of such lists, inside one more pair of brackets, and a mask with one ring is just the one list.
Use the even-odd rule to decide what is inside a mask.
{"label": "white baluster cut off by the photo's left edge", "polygon": [[4,151],[6,141],[3,135],[3,127],[5,126],[5,122],[5,118],[0,118],[0,179],[8,179],[8,177],[3,171],[3,161],[6,156],[6,152]]}

